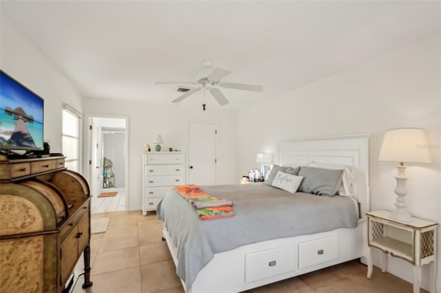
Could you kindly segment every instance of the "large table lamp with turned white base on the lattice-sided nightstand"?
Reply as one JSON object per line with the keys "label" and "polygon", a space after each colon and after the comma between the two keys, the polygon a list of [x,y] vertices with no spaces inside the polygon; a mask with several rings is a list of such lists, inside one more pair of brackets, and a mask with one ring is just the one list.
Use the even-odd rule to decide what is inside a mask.
{"label": "large table lamp with turned white base on the lattice-sided nightstand", "polygon": [[398,175],[395,177],[397,187],[395,193],[396,209],[391,211],[390,217],[398,221],[411,221],[404,197],[407,194],[407,176],[404,173],[406,166],[411,164],[431,164],[426,135],[423,129],[391,129],[384,133],[384,140],[378,157],[380,162],[398,162]]}

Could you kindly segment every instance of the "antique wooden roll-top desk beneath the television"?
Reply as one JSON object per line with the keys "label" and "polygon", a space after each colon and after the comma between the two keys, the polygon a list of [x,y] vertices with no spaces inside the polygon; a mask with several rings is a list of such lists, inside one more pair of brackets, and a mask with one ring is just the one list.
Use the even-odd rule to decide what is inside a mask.
{"label": "antique wooden roll-top desk beneath the television", "polygon": [[63,292],[84,252],[90,287],[90,191],[63,156],[0,155],[0,292]]}

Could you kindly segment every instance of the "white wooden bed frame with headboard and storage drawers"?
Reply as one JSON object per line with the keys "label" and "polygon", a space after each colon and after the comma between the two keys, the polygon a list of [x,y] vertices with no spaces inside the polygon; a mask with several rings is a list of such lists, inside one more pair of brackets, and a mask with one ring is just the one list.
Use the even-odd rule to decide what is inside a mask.
{"label": "white wooden bed frame with headboard and storage drawers", "polygon": [[[216,253],[198,273],[187,293],[241,292],[364,257],[367,247],[365,215],[370,209],[368,140],[368,135],[351,135],[279,144],[278,162],[283,166],[307,166],[316,162],[356,169],[361,215],[356,228],[273,239]],[[165,229],[163,236],[176,265],[176,248]],[[185,289],[185,283],[183,287]]]}

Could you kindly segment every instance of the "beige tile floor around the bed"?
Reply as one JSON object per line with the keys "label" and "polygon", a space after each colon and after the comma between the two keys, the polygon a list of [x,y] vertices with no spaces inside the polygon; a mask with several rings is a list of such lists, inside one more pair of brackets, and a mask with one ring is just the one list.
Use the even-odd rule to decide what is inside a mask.
{"label": "beige tile floor around the bed", "polygon": [[[162,222],[154,213],[144,217],[138,212],[93,214],[92,219],[110,217],[105,233],[91,239],[91,280],[81,289],[83,276],[73,287],[74,293],[181,293],[183,288],[162,241]],[[82,259],[76,272],[81,270]],[[412,285],[392,274],[374,268],[372,279],[366,278],[365,265],[350,261],[318,272],[258,287],[247,293],[402,293],[412,292]],[[422,292],[426,292],[422,290]],[[209,292],[207,292],[209,293]]]}

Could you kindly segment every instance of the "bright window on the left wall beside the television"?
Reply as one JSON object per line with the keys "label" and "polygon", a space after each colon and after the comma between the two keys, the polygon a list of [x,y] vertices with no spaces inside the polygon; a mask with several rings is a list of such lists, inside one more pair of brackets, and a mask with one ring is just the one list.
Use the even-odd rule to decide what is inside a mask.
{"label": "bright window on the left wall beside the television", "polygon": [[75,172],[80,172],[80,119],[79,111],[63,105],[63,155],[65,166]]}

